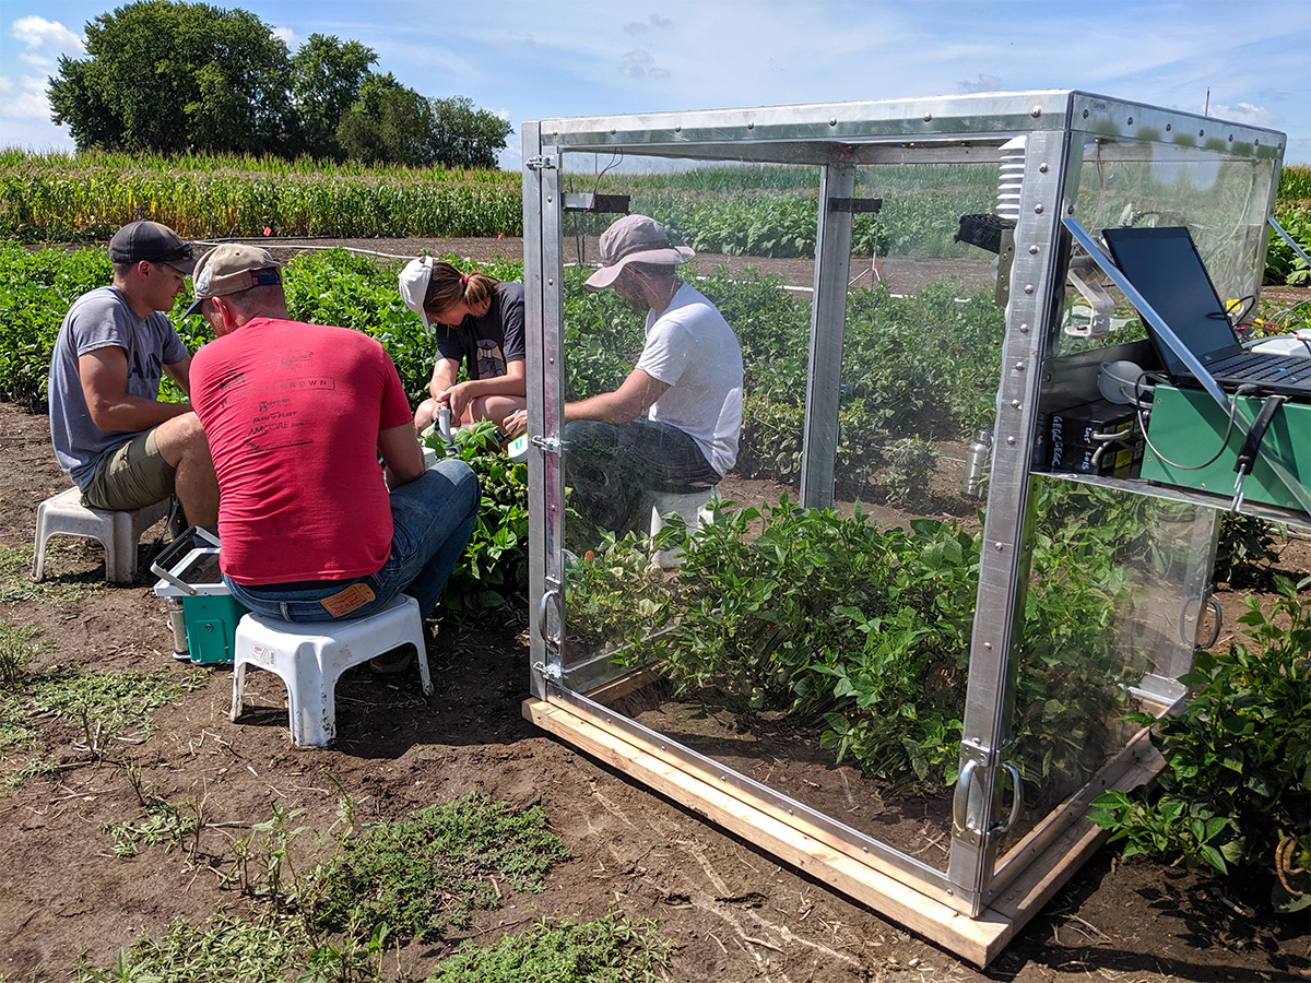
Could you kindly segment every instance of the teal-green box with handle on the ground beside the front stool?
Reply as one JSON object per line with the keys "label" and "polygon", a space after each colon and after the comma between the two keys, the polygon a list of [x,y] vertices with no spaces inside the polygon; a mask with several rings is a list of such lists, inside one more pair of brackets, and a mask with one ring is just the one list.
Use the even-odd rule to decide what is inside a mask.
{"label": "teal-green box with handle on the ground beside the front stool", "polygon": [[[177,560],[178,556],[181,560]],[[174,619],[174,657],[182,658],[181,645],[185,638],[185,651],[190,653],[193,663],[231,663],[237,623],[246,608],[223,583],[219,573],[219,540],[205,530],[193,527],[151,564],[151,570],[160,577],[155,594],[166,600]],[[178,604],[185,634],[177,624]]]}

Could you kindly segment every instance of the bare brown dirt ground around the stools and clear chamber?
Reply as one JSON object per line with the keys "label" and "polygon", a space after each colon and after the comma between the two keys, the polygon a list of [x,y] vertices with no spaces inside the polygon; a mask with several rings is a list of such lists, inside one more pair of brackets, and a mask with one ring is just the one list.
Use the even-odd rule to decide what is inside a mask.
{"label": "bare brown dirt ground around the stools and clear chamber", "polygon": [[[399,254],[410,256],[417,248],[361,245],[400,246],[406,252],[396,248]],[[480,253],[459,241],[433,245],[476,258],[499,249],[519,258],[522,248],[518,240],[480,241]],[[809,277],[809,262],[805,270]],[[30,550],[37,505],[67,488],[47,426],[45,417],[0,405],[5,549]],[[1304,541],[1286,560],[1311,569]],[[63,979],[83,954],[92,966],[108,966],[138,935],[160,937],[177,919],[201,921],[219,906],[237,907],[212,858],[231,857],[231,840],[269,819],[270,802],[304,809],[298,822],[326,830],[338,805],[332,780],[363,802],[366,819],[396,819],[473,789],[517,805],[540,802],[570,851],[543,894],[507,891],[501,910],[475,914],[468,929],[410,945],[405,965],[420,978],[463,938],[492,942],[541,915],[595,917],[611,904],[659,920],[679,946],[669,978],[688,983],[1311,978],[1304,915],[1273,915],[1262,899],[1226,895],[1202,873],[1141,857],[1120,861],[1108,848],[981,973],[524,721],[526,599],[481,621],[440,619],[429,654],[433,697],[421,696],[417,674],[383,682],[366,670],[347,672],[337,691],[337,744],[294,750],[275,676],[248,675],[248,709],[233,723],[229,674],[170,658],[152,575],[98,586],[100,549],[71,539],[52,541],[47,565],[56,586],[88,592],[20,596],[0,608],[0,619],[41,629],[35,668],[165,667],[180,678],[199,675],[205,685],[161,710],[152,735],[115,742],[100,760],[84,750],[80,727],[38,721],[62,764],[52,776],[0,793],[0,979]],[[1222,604],[1230,621],[1239,607]],[[199,856],[163,847],[128,860],[113,855],[102,826],[138,817],[123,777],[128,763],[159,794],[203,801],[208,826]],[[0,763],[5,773],[13,764]]]}

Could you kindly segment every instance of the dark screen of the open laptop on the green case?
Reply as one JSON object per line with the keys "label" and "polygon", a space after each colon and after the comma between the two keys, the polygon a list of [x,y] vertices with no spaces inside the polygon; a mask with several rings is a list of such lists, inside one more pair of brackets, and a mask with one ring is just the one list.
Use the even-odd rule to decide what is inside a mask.
{"label": "dark screen of the open laptop on the green case", "polygon": [[[1203,366],[1238,351],[1238,337],[1186,228],[1106,228],[1101,235],[1129,282]],[[1192,375],[1146,326],[1169,375]]]}

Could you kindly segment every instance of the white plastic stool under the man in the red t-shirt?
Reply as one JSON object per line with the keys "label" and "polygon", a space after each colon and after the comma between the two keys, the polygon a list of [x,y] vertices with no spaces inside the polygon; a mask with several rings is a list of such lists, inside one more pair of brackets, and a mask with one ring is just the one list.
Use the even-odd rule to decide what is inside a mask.
{"label": "white plastic stool under the man in the red t-shirt", "polygon": [[423,695],[433,695],[423,647],[423,616],[418,602],[397,594],[368,617],[341,621],[283,621],[265,615],[245,615],[237,624],[232,657],[232,712],[241,716],[246,666],[257,666],[282,678],[287,685],[291,743],[296,747],[326,747],[337,737],[337,678],[351,666],[409,642],[418,650],[418,674]]}

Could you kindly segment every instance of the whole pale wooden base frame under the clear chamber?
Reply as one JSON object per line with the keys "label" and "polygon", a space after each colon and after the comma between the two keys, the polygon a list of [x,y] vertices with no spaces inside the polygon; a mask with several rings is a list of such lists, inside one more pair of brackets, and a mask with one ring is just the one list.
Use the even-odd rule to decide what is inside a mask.
{"label": "whole pale wooden base frame under the clear chamber", "polygon": [[[981,969],[996,958],[1106,836],[1086,817],[1079,818],[1051,840],[978,917],[971,919],[906,885],[895,877],[899,872],[884,869],[876,858],[842,849],[821,831],[808,828],[805,819],[781,814],[776,806],[741,789],[707,782],[624,735],[583,720],[568,706],[528,699],[523,701],[523,716],[579,751],[620,769]],[[1127,763],[1116,785],[1127,790],[1151,781],[1160,765],[1160,756],[1150,743],[1141,742],[1138,754]]]}

